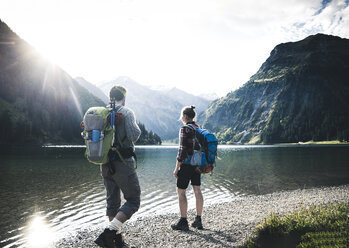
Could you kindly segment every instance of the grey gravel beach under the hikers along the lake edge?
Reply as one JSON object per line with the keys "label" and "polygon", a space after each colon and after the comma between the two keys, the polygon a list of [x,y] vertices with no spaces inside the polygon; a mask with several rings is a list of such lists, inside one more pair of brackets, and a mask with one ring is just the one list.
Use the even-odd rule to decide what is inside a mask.
{"label": "grey gravel beach under the hikers along the lake edge", "polygon": [[[349,202],[349,185],[242,196],[228,203],[205,205],[204,230],[173,231],[170,225],[178,220],[178,213],[173,213],[131,219],[123,234],[132,247],[239,247],[270,212],[284,215],[314,204],[333,202]],[[195,211],[190,210],[189,222],[194,217]],[[97,247],[93,240],[102,231],[103,227],[81,230],[67,235],[55,247]]]}

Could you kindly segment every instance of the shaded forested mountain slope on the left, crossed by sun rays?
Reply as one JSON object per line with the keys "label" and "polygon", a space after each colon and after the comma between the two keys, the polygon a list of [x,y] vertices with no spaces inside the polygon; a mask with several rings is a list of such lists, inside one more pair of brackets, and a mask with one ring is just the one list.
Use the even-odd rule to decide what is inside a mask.
{"label": "shaded forested mountain slope on the left, crossed by sun rays", "polygon": [[82,143],[84,112],[103,105],[0,20],[0,143]]}

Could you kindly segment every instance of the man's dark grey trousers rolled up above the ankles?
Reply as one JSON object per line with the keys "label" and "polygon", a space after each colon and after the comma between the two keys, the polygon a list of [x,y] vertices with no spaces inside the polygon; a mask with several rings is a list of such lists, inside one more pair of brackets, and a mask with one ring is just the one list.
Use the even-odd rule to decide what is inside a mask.
{"label": "man's dark grey trousers rolled up above the ankles", "polygon": [[[121,211],[131,218],[139,209],[141,189],[134,168],[134,160],[127,159],[126,164],[114,160],[101,165],[101,174],[107,190],[107,216],[116,216],[117,212]],[[114,174],[111,173],[111,169],[114,170]],[[126,200],[121,208],[120,191]]]}

